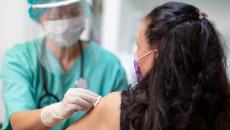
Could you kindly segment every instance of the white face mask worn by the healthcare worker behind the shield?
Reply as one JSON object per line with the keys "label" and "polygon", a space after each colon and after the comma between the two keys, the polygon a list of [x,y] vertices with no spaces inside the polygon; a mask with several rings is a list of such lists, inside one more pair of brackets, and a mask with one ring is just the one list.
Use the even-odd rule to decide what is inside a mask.
{"label": "white face mask worn by the healthcare worker behind the shield", "polygon": [[83,16],[44,22],[47,37],[55,41],[60,47],[70,47],[78,43],[84,28],[85,22]]}

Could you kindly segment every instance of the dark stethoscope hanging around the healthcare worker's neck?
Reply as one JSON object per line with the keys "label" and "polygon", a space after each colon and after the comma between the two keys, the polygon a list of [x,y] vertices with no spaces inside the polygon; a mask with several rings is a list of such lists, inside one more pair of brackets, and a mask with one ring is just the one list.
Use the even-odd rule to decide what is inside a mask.
{"label": "dark stethoscope hanging around the healthcare worker's neck", "polygon": [[[80,46],[80,78],[79,80],[75,83],[77,85],[77,87],[79,88],[88,88],[88,84],[87,84],[87,81],[84,79],[84,73],[83,73],[83,70],[84,70],[84,55],[83,55],[83,45],[82,45],[82,42],[79,41],[79,46]],[[42,50],[44,50],[44,47],[45,45],[42,46]],[[44,53],[42,52],[41,53],[41,57],[44,56]],[[55,103],[55,102],[59,102],[60,99],[52,94],[51,92],[49,92],[48,90],[48,86],[47,86],[47,79],[46,79],[46,69],[44,68],[43,65],[41,65],[41,75],[42,75],[42,78],[43,78],[43,90],[44,90],[44,94],[39,98],[38,100],[38,108],[42,108],[44,106],[47,106],[47,105],[50,105],[52,103]]]}

